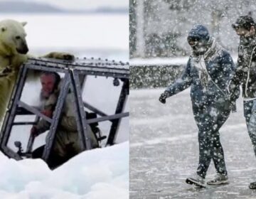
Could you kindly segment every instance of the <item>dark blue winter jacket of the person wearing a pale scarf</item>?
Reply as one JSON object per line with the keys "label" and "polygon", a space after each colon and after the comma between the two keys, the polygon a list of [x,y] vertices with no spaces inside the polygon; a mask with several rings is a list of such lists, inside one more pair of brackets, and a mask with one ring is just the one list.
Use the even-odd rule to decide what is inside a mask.
{"label": "dark blue winter jacket of the person wearing a pale scarf", "polygon": [[[235,73],[235,65],[230,54],[218,43],[212,42],[213,45],[205,55],[196,56],[192,53],[181,78],[166,89],[167,97],[191,86],[193,107],[215,104],[220,109],[230,108],[230,102],[238,98],[238,96],[232,96],[230,100],[228,95],[228,82]],[[202,58],[201,56],[206,66],[206,74],[204,74],[206,79],[204,80],[198,69],[198,60]]]}

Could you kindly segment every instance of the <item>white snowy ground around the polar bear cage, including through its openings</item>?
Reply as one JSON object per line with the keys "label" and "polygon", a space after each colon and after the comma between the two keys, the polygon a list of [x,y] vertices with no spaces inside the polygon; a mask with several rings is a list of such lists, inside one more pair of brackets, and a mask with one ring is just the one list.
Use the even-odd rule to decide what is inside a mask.
{"label": "white snowy ground around the polar bear cage, including through its openings", "polygon": [[[31,55],[58,50],[79,58],[129,60],[128,14],[0,14],[0,21],[5,18],[28,21],[25,29]],[[87,83],[83,96],[87,102],[112,114],[120,86],[113,87],[110,78],[100,77],[91,77]],[[26,85],[23,100],[34,104],[39,89],[39,82]],[[125,109],[129,109],[128,103]],[[103,132],[110,128],[110,124],[100,125]],[[28,133],[29,128],[19,128],[9,144],[13,145],[17,138],[27,139]],[[39,145],[44,137],[38,137]],[[117,141],[121,144],[85,151],[55,171],[41,160],[14,161],[0,153],[0,198],[129,198],[129,119],[121,123]]]}

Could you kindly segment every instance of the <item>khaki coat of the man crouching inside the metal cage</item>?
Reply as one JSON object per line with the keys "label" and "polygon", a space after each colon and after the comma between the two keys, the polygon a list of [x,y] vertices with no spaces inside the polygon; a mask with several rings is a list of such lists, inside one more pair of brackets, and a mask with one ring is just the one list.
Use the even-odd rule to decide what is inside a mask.
{"label": "khaki coat of the man crouching inside the metal cage", "polygon": [[[80,141],[78,135],[78,128],[75,120],[75,112],[73,108],[73,96],[71,93],[68,93],[63,112],[60,114],[60,122],[57,127],[55,134],[55,141],[53,144],[53,151],[59,156],[65,157],[69,154],[79,154],[82,149],[80,148]],[[58,100],[58,92],[53,92],[48,99],[43,99],[42,109],[55,108],[55,104]],[[41,119],[36,125],[38,133],[41,134],[48,129],[50,129],[50,123],[46,120]],[[97,140],[95,135],[92,132],[92,129],[87,125],[88,136],[92,144],[92,149],[97,147]]]}

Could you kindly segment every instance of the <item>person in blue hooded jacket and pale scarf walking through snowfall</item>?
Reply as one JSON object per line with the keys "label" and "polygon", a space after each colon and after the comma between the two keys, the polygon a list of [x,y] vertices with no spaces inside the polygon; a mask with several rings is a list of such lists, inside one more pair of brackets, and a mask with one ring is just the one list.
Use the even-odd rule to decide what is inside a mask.
{"label": "person in blue hooded jacket and pale scarf walking through snowfall", "polygon": [[193,115],[198,126],[199,163],[196,178],[187,178],[186,182],[201,188],[211,159],[217,175],[208,181],[208,185],[228,182],[219,129],[234,109],[239,94],[228,95],[228,82],[234,75],[235,65],[230,54],[216,43],[207,28],[194,26],[188,33],[188,43],[192,53],[183,75],[166,88],[159,101],[165,103],[167,97],[191,86]]}

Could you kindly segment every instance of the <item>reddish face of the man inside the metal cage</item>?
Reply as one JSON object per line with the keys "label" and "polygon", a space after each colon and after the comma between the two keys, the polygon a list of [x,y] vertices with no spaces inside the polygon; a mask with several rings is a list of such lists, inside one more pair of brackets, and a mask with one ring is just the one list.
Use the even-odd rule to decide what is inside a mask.
{"label": "reddish face of the man inside the metal cage", "polygon": [[41,85],[43,97],[49,97],[53,93],[55,77],[50,74],[41,75]]}

